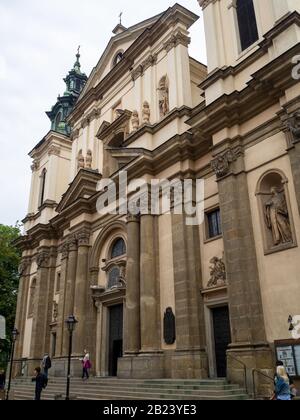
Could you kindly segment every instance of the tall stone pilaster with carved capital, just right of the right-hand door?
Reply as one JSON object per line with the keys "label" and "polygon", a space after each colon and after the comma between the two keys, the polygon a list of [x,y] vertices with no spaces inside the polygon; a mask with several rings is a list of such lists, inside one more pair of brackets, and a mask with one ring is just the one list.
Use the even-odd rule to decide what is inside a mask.
{"label": "tall stone pilaster with carved capital, just right of the right-hand door", "polygon": [[[212,162],[218,178],[219,200],[228,281],[232,333],[230,353],[250,368],[272,367],[266,340],[247,174],[241,146],[230,147]],[[229,377],[235,364],[228,360]],[[241,369],[238,367],[238,369]],[[268,370],[266,373],[270,373]],[[242,372],[240,372],[242,375]]]}

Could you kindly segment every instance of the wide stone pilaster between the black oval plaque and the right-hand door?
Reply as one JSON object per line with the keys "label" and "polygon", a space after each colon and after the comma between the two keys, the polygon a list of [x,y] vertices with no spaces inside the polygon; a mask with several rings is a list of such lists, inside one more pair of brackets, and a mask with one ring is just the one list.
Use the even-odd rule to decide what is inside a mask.
{"label": "wide stone pilaster between the black oval plaque and the right-hand door", "polygon": [[172,215],[174,286],[176,313],[176,356],[173,377],[206,378],[204,305],[200,294],[199,226],[187,226],[186,216]]}

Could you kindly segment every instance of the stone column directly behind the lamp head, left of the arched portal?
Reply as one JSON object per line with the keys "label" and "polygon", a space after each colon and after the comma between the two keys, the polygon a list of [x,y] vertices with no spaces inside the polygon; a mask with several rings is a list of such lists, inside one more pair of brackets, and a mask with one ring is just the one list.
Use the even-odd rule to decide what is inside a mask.
{"label": "stone column directly behind the lamp head, left of the arched portal", "polygon": [[[75,236],[69,239],[68,247],[69,255],[66,277],[64,321],[66,321],[70,315],[74,315],[75,282],[77,270],[77,240]],[[63,337],[63,356],[67,356],[69,353],[69,332],[67,328],[64,328]]]}

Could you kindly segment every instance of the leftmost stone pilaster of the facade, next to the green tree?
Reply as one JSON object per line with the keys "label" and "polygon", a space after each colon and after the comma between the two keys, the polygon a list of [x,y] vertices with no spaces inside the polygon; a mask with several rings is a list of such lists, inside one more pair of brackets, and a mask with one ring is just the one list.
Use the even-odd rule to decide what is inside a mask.
{"label": "leftmost stone pilaster of the facade, next to the green tree", "polygon": [[[24,343],[24,333],[25,333],[25,323],[27,317],[27,301],[28,301],[28,292],[30,284],[30,268],[31,268],[31,258],[22,258],[19,274],[19,291],[18,291],[18,300],[17,300],[17,312],[15,326],[19,331],[20,335],[16,342],[15,350],[15,359],[21,359],[23,356],[23,343]],[[16,368],[16,373],[20,373],[21,363],[18,363]]]}

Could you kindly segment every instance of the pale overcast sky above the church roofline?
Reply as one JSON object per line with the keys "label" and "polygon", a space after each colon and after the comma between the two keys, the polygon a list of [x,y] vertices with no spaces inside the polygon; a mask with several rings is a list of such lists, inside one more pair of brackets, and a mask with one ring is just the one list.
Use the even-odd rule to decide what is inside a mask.
{"label": "pale overcast sky above the church roofline", "polygon": [[[45,111],[64,92],[62,78],[81,45],[89,75],[123,11],[124,26],[154,16],[171,0],[0,0],[0,224],[27,214],[31,179],[28,152],[50,129]],[[190,54],[206,62],[197,0],[180,4],[201,16],[191,30]],[[109,4],[109,6],[107,6]]]}

